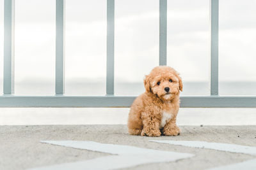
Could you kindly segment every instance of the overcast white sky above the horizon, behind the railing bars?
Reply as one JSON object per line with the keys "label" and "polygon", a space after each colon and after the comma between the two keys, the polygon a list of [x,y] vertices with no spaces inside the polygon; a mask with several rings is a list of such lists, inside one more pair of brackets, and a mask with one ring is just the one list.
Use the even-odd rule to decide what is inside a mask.
{"label": "overcast white sky above the horizon, behind the railing bars", "polygon": [[[220,0],[220,81],[256,81],[256,1]],[[158,64],[159,1],[116,0],[115,78],[142,82]],[[106,0],[66,0],[66,80],[106,81]],[[55,1],[15,1],[15,81],[52,81]],[[168,66],[209,81],[209,1],[168,0]],[[3,0],[0,0],[3,79]],[[93,80],[92,80],[93,81]],[[1,88],[2,90],[2,88]]]}

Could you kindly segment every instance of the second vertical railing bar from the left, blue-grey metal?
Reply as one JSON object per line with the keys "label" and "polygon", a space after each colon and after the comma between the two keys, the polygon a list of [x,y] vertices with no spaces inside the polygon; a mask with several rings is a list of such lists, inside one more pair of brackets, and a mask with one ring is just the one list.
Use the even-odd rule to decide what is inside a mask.
{"label": "second vertical railing bar from the left, blue-grey metal", "polygon": [[55,92],[65,93],[65,0],[56,0]]}

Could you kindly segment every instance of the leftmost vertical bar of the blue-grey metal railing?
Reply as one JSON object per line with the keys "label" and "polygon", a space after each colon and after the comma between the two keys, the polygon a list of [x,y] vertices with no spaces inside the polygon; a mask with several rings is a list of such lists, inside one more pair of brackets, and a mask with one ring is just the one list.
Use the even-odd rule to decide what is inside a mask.
{"label": "leftmost vertical bar of the blue-grey metal railing", "polygon": [[14,94],[14,0],[4,0],[4,94]]}

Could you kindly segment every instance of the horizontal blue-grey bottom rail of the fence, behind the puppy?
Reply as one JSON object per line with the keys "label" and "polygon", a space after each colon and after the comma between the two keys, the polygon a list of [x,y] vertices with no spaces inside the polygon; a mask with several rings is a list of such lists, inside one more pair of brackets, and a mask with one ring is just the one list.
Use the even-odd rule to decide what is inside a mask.
{"label": "horizontal blue-grey bottom rail of the fence, behind the puppy", "polygon": [[[0,107],[127,108],[136,96],[0,96]],[[256,97],[182,96],[182,108],[255,108]]]}

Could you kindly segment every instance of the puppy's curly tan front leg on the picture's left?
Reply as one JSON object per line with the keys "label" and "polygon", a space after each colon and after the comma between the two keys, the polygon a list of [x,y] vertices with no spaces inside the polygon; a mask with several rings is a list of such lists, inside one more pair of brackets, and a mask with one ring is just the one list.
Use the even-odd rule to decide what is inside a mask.
{"label": "puppy's curly tan front leg on the picture's left", "polygon": [[143,129],[141,131],[141,136],[160,136],[161,132],[159,130],[160,120],[156,118],[153,113],[141,113],[141,119],[143,123]]}

